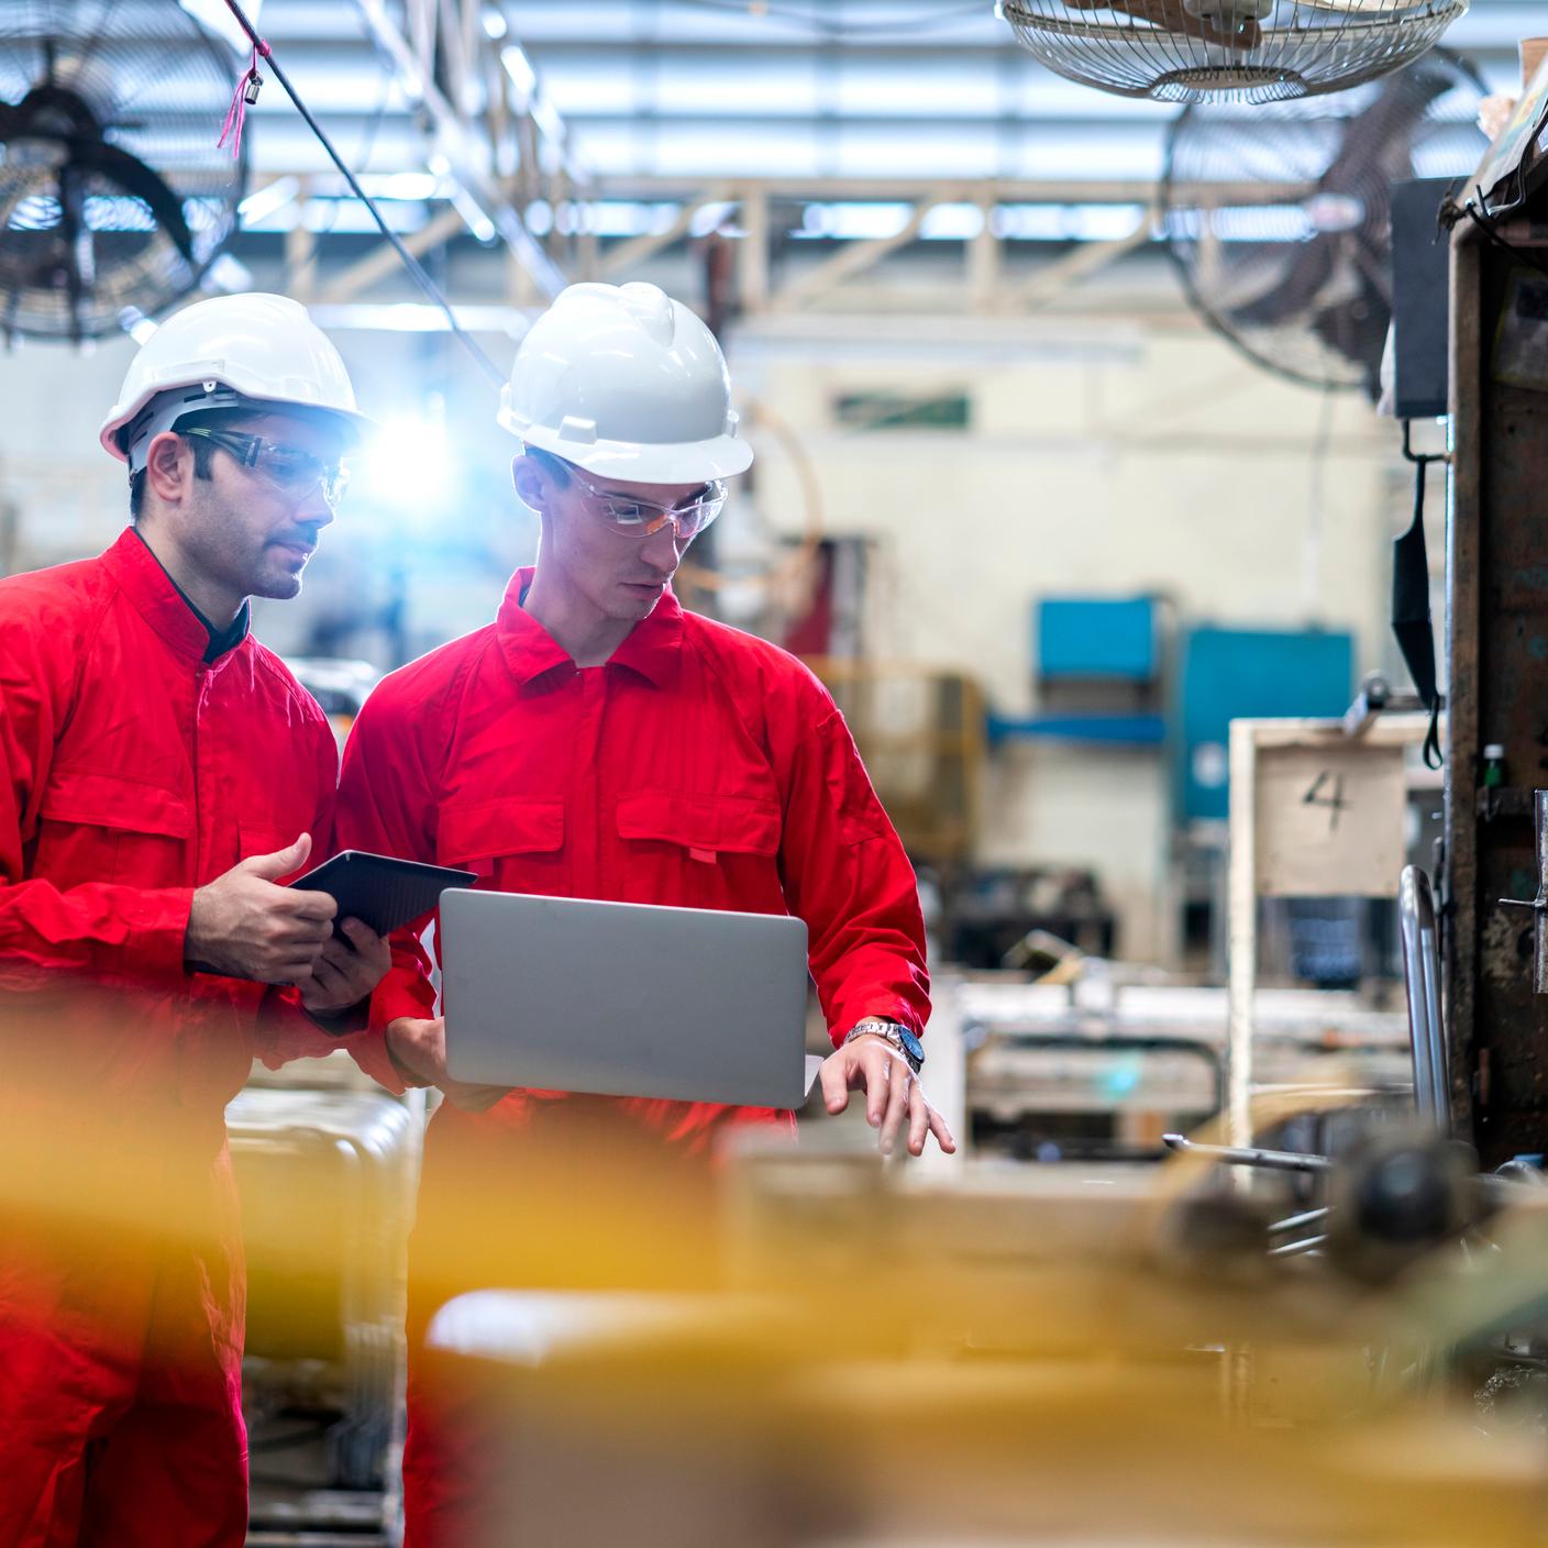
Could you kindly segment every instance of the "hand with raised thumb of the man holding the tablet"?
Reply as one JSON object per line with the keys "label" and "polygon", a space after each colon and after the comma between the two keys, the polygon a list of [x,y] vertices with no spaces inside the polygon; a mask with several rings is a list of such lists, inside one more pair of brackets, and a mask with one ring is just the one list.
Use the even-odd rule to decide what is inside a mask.
{"label": "hand with raised thumb of the man holding the tablet", "polygon": [[288,848],[254,854],[200,887],[189,912],[187,960],[257,983],[310,978],[339,906],[325,892],[276,885],[310,853],[311,834],[303,833]]}

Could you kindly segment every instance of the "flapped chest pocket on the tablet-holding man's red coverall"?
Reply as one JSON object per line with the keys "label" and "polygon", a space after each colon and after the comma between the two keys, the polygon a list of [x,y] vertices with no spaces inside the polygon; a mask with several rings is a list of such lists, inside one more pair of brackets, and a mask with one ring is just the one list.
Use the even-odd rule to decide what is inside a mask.
{"label": "flapped chest pocket on the tablet-holding man's red coverall", "polygon": [[62,769],[39,803],[33,873],[67,887],[187,885],[192,836],[194,813],[181,796],[119,774]]}

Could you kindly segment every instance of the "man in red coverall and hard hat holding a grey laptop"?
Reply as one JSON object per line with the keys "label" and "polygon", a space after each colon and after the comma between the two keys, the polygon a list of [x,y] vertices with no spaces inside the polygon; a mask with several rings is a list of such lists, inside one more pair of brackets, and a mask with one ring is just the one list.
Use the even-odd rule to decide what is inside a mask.
{"label": "man in red coverall and hard hat holding a grey laptop", "polygon": [[[509,892],[799,915],[836,1046],[830,1111],[864,1088],[882,1150],[918,1155],[930,1133],[954,1150],[915,1077],[929,978],[913,870],[844,720],[799,661],[670,590],[723,480],[752,460],[709,330],[652,285],[574,285],[523,339],[502,423],[525,441],[514,477],[542,522],[537,565],[494,624],[372,694],[344,755],[341,842]],[[531,1201],[580,1186],[593,1141],[633,1133],[649,1181],[630,1207],[649,1212],[670,1169],[652,1152],[703,1170],[731,1125],[794,1128],[769,1110],[460,1085],[426,960],[412,938],[393,955],[362,1062],[449,1098],[410,1245],[412,1351],[458,1288],[446,1263],[466,1263],[467,1237],[494,1238],[492,1271],[512,1282],[542,1229]],[[424,1370],[410,1353],[409,1545],[483,1542],[495,1452]]]}

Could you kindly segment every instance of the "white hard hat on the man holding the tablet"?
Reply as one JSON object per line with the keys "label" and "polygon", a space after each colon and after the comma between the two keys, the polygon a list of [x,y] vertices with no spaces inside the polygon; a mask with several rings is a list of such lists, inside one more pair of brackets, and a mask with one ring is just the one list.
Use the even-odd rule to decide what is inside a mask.
{"label": "white hard hat on the man holding the tablet", "polygon": [[[166,402],[136,424],[163,395]],[[156,328],[130,361],[118,402],[102,421],[102,446],[133,469],[132,452],[184,413],[248,404],[334,413],[356,441],[372,424],[354,407],[339,351],[307,308],[288,296],[251,293],[195,302]]]}

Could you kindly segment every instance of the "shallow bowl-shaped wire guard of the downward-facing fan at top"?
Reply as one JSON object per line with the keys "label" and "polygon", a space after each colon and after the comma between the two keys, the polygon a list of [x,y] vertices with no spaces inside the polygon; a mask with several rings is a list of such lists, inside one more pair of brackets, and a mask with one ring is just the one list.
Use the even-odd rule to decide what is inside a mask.
{"label": "shallow bowl-shaped wire guard of the downward-facing fan at top", "polygon": [[1341,91],[1418,59],[1466,9],[1468,0],[1000,0],[1050,70],[1161,102]]}

